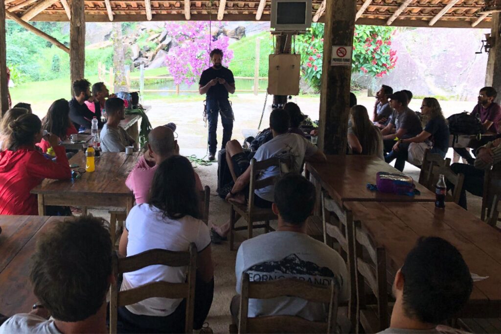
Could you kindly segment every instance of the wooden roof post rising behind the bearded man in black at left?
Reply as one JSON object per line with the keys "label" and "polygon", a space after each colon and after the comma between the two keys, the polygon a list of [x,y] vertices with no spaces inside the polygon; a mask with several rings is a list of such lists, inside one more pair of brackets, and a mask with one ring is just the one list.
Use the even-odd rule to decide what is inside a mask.
{"label": "wooden roof post rising behind the bearded man in black at left", "polygon": [[[85,6],[84,0],[71,0],[70,72],[71,82],[85,74]],[[73,92],[71,94],[73,96]]]}

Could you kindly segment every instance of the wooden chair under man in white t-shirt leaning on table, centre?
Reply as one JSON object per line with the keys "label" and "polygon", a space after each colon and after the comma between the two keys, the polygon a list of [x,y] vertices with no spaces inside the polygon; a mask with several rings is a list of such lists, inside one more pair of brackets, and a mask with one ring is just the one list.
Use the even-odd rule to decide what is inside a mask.
{"label": "wooden chair under man in white t-shirt leaning on table, centre", "polygon": [[[269,167],[276,166],[280,169],[281,174],[283,172],[288,172],[292,166],[291,158],[270,158],[264,161],[256,161],[256,159],[250,160],[250,183],[249,183],[249,197],[247,204],[231,203],[229,222],[229,249],[234,249],[234,232],[247,230],[248,239],[253,236],[254,228],[265,228],[266,233],[273,228],[270,227],[270,220],[277,219],[277,215],[273,213],[272,209],[264,209],[254,206],[254,191],[256,189],[265,188],[267,186],[273,185],[275,183],[276,176],[271,176],[263,180],[257,180],[257,176],[260,171],[265,170]],[[237,215],[242,217],[247,221],[246,226],[235,227],[236,221],[238,220]],[[254,222],[264,221],[264,224],[255,225]]]}

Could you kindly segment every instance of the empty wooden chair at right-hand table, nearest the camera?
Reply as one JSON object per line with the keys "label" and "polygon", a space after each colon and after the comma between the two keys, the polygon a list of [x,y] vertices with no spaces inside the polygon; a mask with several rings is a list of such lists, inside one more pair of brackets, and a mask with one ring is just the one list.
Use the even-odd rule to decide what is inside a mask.
{"label": "empty wooden chair at right-hand table, nearest the camera", "polygon": [[[360,222],[353,225],[357,283],[357,318],[364,332],[376,333],[388,327],[391,311],[388,309],[388,282],[386,280],[386,254],[383,247],[375,245]],[[367,253],[368,261],[363,254]],[[368,286],[375,304],[367,302],[365,288]],[[357,328],[357,332],[360,332]]]}

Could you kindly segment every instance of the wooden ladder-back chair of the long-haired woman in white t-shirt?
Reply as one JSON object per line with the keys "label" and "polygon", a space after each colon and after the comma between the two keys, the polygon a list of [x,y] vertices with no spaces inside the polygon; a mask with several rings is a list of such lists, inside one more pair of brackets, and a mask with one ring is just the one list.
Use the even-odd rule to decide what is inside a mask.
{"label": "wooden ladder-back chair of the long-haired woman in white t-shirt", "polygon": [[110,287],[110,333],[117,332],[117,309],[119,306],[131,305],[141,300],[162,298],[186,298],[185,332],[193,331],[193,312],[195,302],[197,249],[190,243],[188,251],[172,252],[165,249],[150,249],[137,255],[118,258],[113,257],[113,273],[115,275],[131,272],[150,265],[168,265],[171,267],[188,267],[186,281],[183,283],[169,283],[165,281],[147,283],[130,290],[118,291],[117,284]]}

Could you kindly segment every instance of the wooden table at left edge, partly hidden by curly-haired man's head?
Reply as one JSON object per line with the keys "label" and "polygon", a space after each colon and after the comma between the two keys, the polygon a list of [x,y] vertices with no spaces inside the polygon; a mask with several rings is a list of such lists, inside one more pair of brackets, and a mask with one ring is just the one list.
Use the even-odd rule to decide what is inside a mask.
{"label": "wooden table at left edge, partly hidden by curly-haired man's head", "polygon": [[28,313],[37,302],[30,283],[30,258],[42,232],[68,217],[0,215],[0,310]]}

